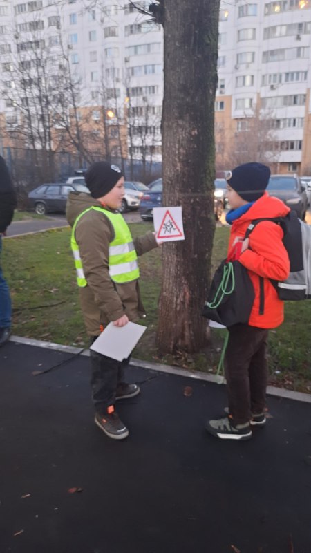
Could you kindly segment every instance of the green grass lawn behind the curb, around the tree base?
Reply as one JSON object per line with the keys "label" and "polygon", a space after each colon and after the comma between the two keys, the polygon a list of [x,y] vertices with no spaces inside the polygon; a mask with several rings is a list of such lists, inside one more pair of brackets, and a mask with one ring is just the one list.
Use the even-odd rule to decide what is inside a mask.
{"label": "green grass lawn behind the curb, around the tree base", "polygon": [[[131,224],[133,236],[152,228],[151,223]],[[229,229],[218,227],[213,265],[225,256]],[[3,270],[13,301],[13,332],[59,344],[87,346],[79,309],[70,229],[9,238],[3,244]],[[147,331],[133,352],[149,361],[179,364],[184,368],[215,372],[225,330],[211,330],[210,347],[198,355],[176,359],[157,357],[155,335],[160,293],[161,255],[153,250],[140,258],[141,290],[147,310]],[[202,303],[204,299],[202,298]],[[311,302],[288,302],[285,323],[270,332],[271,383],[311,393]]]}

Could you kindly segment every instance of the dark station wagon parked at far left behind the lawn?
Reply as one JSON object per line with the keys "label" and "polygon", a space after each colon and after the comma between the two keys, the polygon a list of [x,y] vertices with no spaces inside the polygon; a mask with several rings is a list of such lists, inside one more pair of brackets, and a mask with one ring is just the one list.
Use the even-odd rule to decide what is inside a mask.
{"label": "dark station wagon parked at far left behind the lawn", "polygon": [[74,191],[90,194],[88,188],[79,182],[70,185],[48,182],[29,192],[28,200],[30,207],[34,207],[38,215],[48,212],[65,212],[67,196],[69,192]]}

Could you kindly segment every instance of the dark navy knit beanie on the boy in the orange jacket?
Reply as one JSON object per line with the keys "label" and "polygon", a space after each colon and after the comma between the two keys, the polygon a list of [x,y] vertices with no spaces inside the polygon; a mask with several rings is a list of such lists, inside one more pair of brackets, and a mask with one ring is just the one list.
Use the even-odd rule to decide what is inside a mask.
{"label": "dark navy knit beanie on the boy in the orange jacket", "polygon": [[229,171],[227,182],[243,200],[254,202],[263,196],[271,171],[262,163],[244,163]]}

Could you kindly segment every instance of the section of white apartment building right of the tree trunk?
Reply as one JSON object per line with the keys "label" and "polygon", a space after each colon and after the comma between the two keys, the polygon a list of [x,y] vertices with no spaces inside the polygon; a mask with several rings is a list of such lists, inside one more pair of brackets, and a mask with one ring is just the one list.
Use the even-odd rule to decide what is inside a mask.
{"label": "section of white apartment building right of the tree trunk", "polygon": [[245,156],[264,147],[274,172],[311,174],[310,39],[310,0],[222,2],[218,167],[240,145]]}

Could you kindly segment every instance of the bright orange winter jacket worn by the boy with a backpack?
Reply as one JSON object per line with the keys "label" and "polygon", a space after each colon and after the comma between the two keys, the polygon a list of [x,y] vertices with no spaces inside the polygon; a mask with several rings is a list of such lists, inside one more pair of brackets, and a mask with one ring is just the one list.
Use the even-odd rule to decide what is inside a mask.
{"label": "bright orange winter jacket worn by the boy with a backpack", "polygon": [[[228,257],[232,256],[235,238],[244,238],[253,219],[284,217],[290,209],[267,192],[232,224]],[[249,234],[249,247],[238,258],[247,268],[255,290],[255,299],[248,324],[259,328],[275,328],[284,319],[284,302],[279,299],[269,279],[283,281],[290,272],[288,252],[282,242],[283,230],[271,221],[262,221]],[[260,314],[260,279],[263,277],[263,313]]]}

